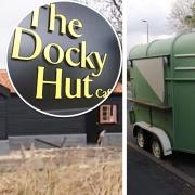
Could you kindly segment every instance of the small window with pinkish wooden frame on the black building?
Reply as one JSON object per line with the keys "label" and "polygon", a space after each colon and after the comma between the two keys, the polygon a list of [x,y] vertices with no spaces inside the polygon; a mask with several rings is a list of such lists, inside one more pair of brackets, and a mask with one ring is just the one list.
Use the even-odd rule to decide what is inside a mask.
{"label": "small window with pinkish wooden frame on the black building", "polygon": [[100,106],[100,123],[117,123],[117,105]]}

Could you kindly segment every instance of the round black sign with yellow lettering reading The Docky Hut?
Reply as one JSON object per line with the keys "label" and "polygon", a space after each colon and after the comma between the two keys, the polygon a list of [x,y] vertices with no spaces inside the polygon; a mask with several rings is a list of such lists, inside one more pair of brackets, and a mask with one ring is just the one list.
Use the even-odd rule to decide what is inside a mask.
{"label": "round black sign with yellow lettering reading The Docky Hut", "polygon": [[120,43],[94,10],[57,2],[34,10],[15,28],[8,51],[12,83],[32,108],[68,117],[95,108],[121,69]]}

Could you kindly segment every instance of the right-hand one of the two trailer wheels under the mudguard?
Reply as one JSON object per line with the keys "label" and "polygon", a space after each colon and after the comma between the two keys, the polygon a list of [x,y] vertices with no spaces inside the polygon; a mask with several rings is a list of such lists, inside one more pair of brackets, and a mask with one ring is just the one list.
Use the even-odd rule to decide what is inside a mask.
{"label": "right-hand one of the two trailer wheels under the mudguard", "polygon": [[156,158],[161,158],[164,156],[161,143],[157,138],[153,138],[151,142],[152,153]]}

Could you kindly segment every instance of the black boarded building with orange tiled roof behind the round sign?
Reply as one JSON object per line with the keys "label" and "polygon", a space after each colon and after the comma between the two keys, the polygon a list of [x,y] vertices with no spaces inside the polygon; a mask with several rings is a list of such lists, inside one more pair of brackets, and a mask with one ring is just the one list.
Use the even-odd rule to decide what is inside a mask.
{"label": "black boarded building with orange tiled roof behind the round sign", "polygon": [[96,109],[72,118],[40,114],[27,106],[15,93],[5,70],[0,70],[0,139],[39,134],[87,134],[96,142],[99,132],[122,131],[122,90],[119,82],[113,94]]}

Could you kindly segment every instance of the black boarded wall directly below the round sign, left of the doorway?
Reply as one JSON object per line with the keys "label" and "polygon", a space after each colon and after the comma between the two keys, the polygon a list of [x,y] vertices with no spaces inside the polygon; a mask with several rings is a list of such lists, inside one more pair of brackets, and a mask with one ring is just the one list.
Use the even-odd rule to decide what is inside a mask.
{"label": "black boarded wall directly below the round sign, left of the doorway", "polygon": [[84,116],[57,118],[40,114],[17,95],[8,101],[9,135],[86,133]]}

